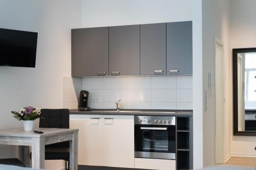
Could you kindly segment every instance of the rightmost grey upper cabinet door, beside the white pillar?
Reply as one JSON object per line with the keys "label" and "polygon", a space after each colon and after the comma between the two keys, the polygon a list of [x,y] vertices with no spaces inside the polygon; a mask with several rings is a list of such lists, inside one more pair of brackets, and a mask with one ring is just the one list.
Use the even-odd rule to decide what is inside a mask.
{"label": "rightmost grey upper cabinet door, beside the white pillar", "polygon": [[167,23],[166,32],[167,75],[193,74],[192,21]]}

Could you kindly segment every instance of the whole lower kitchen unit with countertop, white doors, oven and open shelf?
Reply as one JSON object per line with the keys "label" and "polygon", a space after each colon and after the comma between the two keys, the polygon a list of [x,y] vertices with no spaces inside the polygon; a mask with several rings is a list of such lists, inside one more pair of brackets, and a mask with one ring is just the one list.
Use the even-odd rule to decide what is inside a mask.
{"label": "whole lower kitchen unit with countertop, white doors, oven and open shelf", "polygon": [[79,129],[79,165],[193,168],[192,111],[92,110],[70,114],[70,127]]}

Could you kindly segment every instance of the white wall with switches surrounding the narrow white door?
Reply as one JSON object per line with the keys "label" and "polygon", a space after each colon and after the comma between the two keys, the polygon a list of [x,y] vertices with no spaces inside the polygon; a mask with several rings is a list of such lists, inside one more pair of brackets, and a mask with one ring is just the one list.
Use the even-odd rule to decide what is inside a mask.
{"label": "white wall with switches surrounding the narrow white door", "polygon": [[[207,110],[203,113],[204,166],[215,165],[215,86],[208,87],[208,72],[215,78],[215,37],[224,45],[225,72],[225,143],[224,157],[229,155],[230,125],[230,50],[229,50],[229,0],[202,1],[203,29],[203,93],[207,90]],[[205,99],[204,99],[205,100]]]}

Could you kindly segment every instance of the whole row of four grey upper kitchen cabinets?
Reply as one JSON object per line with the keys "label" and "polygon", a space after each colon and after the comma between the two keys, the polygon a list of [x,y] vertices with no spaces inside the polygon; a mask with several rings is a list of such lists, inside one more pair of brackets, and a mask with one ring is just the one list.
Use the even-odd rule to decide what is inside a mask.
{"label": "whole row of four grey upper kitchen cabinets", "polygon": [[192,21],[72,30],[72,76],[192,75]]}

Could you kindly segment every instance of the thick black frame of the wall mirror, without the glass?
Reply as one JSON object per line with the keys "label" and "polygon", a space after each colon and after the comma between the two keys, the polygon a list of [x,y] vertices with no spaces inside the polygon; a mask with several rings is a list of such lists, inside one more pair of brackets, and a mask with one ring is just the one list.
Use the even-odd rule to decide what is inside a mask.
{"label": "thick black frame of the wall mirror, without the glass", "polygon": [[256,131],[238,131],[238,53],[256,53],[255,48],[233,48],[233,135],[234,136],[256,136]]}

